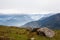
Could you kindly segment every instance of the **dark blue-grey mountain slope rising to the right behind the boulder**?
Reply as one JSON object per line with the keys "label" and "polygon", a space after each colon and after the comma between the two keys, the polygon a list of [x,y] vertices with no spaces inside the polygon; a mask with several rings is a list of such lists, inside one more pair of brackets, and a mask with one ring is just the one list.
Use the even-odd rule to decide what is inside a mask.
{"label": "dark blue-grey mountain slope rising to the right behind the boulder", "polygon": [[29,27],[49,27],[51,29],[60,29],[60,13],[51,15],[42,20],[29,22],[24,25]]}

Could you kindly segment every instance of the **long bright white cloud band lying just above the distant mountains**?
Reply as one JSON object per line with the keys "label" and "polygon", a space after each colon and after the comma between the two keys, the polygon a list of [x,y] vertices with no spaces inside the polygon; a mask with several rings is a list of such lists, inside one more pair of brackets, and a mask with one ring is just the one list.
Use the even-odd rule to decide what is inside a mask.
{"label": "long bright white cloud band lying just above the distant mountains", "polygon": [[0,9],[2,14],[49,14],[48,11],[37,11],[37,10],[17,10],[17,9]]}

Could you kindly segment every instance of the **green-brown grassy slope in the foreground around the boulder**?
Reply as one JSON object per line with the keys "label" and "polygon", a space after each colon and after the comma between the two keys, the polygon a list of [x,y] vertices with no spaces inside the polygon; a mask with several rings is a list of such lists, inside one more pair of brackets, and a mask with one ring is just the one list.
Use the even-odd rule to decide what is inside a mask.
{"label": "green-brown grassy slope in the foreground around the boulder", "polygon": [[0,40],[27,40],[34,37],[35,40],[60,40],[60,30],[54,30],[56,35],[53,38],[47,38],[37,35],[35,32],[30,33],[24,28],[0,26]]}

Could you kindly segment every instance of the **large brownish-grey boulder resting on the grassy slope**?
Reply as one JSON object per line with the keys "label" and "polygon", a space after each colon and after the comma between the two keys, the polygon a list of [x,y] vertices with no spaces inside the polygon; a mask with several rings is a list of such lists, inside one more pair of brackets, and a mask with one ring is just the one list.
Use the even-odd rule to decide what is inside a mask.
{"label": "large brownish-grey boulder resting on the grassy slope", "polygon": [[55,32],[47,27],[43,27],[37,30],[38,32],[43,32],[46,37],[53,37],[55,35]]}

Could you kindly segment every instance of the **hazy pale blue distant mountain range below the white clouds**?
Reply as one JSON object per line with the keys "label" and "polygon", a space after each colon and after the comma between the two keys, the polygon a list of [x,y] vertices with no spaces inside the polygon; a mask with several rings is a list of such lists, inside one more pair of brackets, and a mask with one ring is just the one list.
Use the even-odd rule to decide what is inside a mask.
{"label": "hazy pale blue distant mountain range below the white clouds", "polygon": [[[51,15],[51,14],[50,14]],[[48,14],[0,14],[0,25],[6,26],[22,26],[31,21],[37,21],[50,16]]]}

